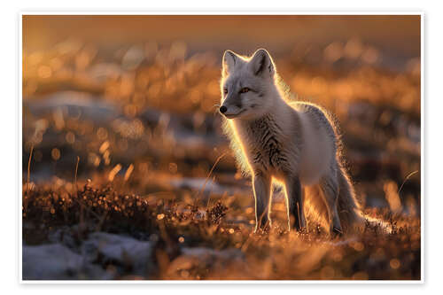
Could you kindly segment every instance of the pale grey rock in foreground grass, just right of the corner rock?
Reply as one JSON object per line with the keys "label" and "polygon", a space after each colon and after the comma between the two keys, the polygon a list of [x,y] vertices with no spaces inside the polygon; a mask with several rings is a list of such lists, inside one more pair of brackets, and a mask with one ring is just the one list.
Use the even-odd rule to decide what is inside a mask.
{"label": "pale grey rock in foreground grass, just right of the corner rock", "polygon": [[146,276],[153,269],[153,243],[132,237],[95,232],[82,244],[82,254],[89,262],[101,260],[130,268],[131,274]]}

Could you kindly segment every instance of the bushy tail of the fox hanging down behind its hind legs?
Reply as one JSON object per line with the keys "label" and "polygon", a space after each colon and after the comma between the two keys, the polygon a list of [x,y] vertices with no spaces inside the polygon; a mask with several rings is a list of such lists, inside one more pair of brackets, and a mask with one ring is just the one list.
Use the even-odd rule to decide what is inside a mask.
{"label": "bushy tail of the fox hanging down behind its hind legs", "polygon": [[338,185],[338,215],[343,229],[347,233],[363,229],[365,219],[361,213],[361,206],[355,198],[354,187],[343,167],[338,171]]}

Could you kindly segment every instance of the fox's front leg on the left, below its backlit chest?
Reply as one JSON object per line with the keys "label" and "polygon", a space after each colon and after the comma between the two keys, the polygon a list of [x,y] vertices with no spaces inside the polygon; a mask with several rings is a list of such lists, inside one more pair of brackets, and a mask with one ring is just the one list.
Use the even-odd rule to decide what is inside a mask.
{"label": "fox's front leg on the left, below its backlit chest", "polygon": [[268,225],[268,205],[270,199],[271,178],[262,173],[253,176],[253,196],[255,198],[255,230],[265,229]]}

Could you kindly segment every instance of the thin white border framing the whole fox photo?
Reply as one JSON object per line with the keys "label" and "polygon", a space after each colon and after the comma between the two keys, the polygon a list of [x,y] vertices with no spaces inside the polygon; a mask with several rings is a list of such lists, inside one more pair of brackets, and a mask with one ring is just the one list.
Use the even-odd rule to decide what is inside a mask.
{"label": "thin white border framing the whole fox photo", "polygon": [[[23,272],[22,272],[22,213],[21,213],[21,206],[22,206],[22,197],[23,197],[23,186],[22,186],[22,149],[23,149],[23,135],[22,135],[22,115],[23,115],[23,93],[22,93],[22,85],[23,85],[23,31],[22,31],[22,19],[25,15],[346,15],[346,16],[354,16],[354,15],[416,15],[420,16],[420,120],[421,120],[421,126],[420,126],[420,172],[421,172],[421,179],[420,179],[420,189],[421,189],[421,196],[420,196],[420,210],[421,210],[421,248],[420,248],[420,280],[366,280],[366,281],[354,281],[354,280],[191,280],[191,281],[185,281],[185,280],[144,280],[144,281],[131,281],[131,280],[23,280]],[[41,12],[41,11],[22,11],[19,12],[18,15],[18,22],[19,22],[19,28],[18,28],[18,39],[19,39],[19,56],[18,56],[18,66],[19,66],[19,77],[18,77],[18,90],[19,90],[19,100],[18,100],[18,110],[19,110],[19,139],[18,139],[18,147],[19,147],[19,177],[18,177],[18,192],[19,192],[19,198],[18,198],[18,204],[17,204],[17,212],[18,212],[18,218],[19,218],[19,283],[21,284],[44,284],[44,283],[55,283],[55,284],[66,284],[66,283],[86,283],[86,284],[101,284],[101,283],[154,283],[154,284],[163,284],[163,283],[332,283],[332,284],[342,284],[342,283],[411,283],[411,284],[423,284],[424,283],[424,12],[282,12],[282,11],[268,11],[268,12],[242,12],[242,11],[183,11],[183,12],[168,12],[168,11],[155,11],[155,12],[94,12],[94,11],[77,11],[77,12],[67,12],[67,11],[48,11],[48,12]]]}

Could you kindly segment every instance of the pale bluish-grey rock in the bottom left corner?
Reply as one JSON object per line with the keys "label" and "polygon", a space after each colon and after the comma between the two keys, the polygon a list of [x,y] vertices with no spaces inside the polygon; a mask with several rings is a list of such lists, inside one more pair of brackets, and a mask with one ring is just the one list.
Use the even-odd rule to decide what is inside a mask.
{"label": "pale bluish-grey rock in the bottom left corner", "polygon": [[24,280],[111,279],[98,266],[85,263],[82,255],[64,245],[23,245]]}

